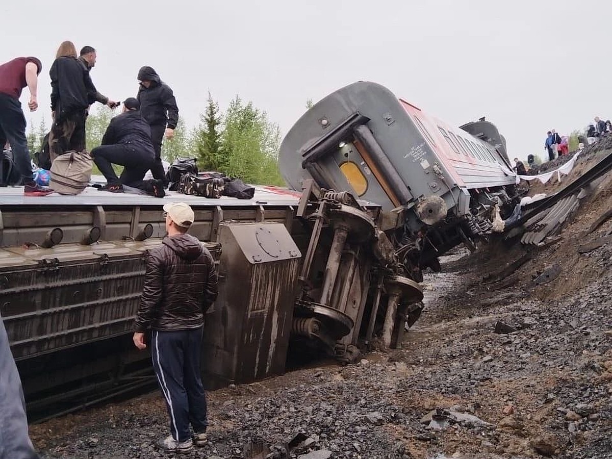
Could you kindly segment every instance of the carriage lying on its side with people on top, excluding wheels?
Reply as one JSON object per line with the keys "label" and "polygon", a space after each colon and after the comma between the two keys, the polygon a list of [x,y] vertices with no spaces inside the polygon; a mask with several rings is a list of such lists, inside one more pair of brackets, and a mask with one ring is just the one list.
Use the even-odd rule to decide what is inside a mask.
{"label": "carriage lying on its side with people on top, excluding wheels", "polygon": [[[28,408],[75,408],[150,386],[149,353],[131,329],[143,288],[146,251],[165,235],[162,204],[186,201],[220,271],[202,349],[209,387],[285,370],[301,252],[299,202],[259,189],[255,198],[206,200],[110,195],[24,198],[0,188],[0,313]],[[297,224],[294,224],[297,223]],[[244,288],[245,283],[252,288]],[[92,394],[96,394],[95,396]]]}

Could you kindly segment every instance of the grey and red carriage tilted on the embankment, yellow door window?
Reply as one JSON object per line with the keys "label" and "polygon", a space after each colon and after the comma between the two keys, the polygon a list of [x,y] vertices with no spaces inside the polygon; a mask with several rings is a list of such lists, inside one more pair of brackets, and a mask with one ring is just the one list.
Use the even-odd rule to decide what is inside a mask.
{"label": "grey and red carriage tilted on the embankment, yellow door window", "polygon": [[[461,242],[490,234],[518,202],[506,141],[481,119],[465,129],[428,115],[376,83],[360,81],[325,97],[283,140],[280,168],[300,190],[313,180],[381,204],[378,222],[412,280]],[[474,134],[474,135],[472,135]]]}

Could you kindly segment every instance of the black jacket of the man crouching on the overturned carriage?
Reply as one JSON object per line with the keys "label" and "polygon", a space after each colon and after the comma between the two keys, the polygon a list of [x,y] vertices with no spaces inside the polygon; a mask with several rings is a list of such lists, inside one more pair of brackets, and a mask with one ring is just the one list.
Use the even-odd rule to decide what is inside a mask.
{"label": "black jacket of the man crouching on the overturned carriage", "polygon": [[139,110],[128,110],[111,119],[102,137],[102,145],[130,144],[139,153],[155,159],[151,143],[151,127]]}

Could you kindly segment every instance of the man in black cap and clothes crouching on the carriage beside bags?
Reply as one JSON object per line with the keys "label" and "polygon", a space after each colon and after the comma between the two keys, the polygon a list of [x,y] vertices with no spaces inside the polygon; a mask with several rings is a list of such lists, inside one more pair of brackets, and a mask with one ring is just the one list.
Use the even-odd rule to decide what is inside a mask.
{"label": "man in black cap and clothes crouching on the carriage beside bags", "polygon": [[[155,151],[151,128],[141,116],[140,102],[134,97],[125,99],[123,113],[111,119],[102,145],[92,149],[91,155],[106,179],[106,186],[101,190],[123,193],[125,185],[158,197],[165,194],[163,181],[143,181],[155,161]],[[113,170],[113,164],[124,166],[120,177]]]}

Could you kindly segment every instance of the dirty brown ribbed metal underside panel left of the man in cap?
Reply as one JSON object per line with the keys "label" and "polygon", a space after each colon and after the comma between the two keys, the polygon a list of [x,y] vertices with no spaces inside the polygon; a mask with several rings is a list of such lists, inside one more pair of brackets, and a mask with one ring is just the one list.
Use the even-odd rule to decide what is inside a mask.
{"label": "dirty brown ribbed metal underside panel left of the man in cap", "polygon": [[[160,242],[0,251],[0,311],[15,359],[129,333],[144,252]],[[218,258],[218,245],[206,245]]]}

